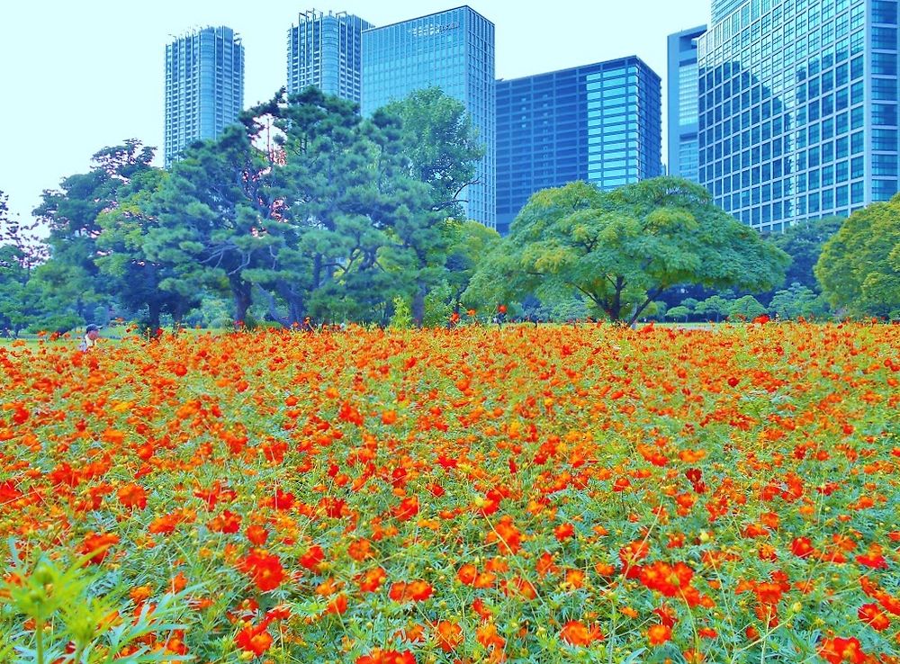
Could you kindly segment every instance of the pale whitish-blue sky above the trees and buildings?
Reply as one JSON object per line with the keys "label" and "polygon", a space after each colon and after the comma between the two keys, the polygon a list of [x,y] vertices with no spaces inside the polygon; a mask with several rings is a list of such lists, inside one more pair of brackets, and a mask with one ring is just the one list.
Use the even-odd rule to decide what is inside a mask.
{"label": "pale whitish-blue sky above the trees and buildings", "polygon": [[[228,25],[245,53],[244,105],[284,85],[287,31],[312,8],[375,25],[462,0],[0,0],[0,191],[24,219],[40,193],[135,138],[162,166],[166,43],[195,27]],[[710,0],[471,0],[496,26],[496,74],[516,78],[637,55],[662,76],[666,37],[709,20]],[[264,7],[264,8],[263,8]],[[533,7],[533,8],[532,8]]]}

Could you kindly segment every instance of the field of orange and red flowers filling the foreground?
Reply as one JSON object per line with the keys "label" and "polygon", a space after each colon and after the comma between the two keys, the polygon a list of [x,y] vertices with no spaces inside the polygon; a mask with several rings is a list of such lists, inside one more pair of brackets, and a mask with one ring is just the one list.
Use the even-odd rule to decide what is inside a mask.
{"label": "field of orange and red flowers filling the foreground", "polygon": [[3,662],[900,661],[897,326],[0,367]]}

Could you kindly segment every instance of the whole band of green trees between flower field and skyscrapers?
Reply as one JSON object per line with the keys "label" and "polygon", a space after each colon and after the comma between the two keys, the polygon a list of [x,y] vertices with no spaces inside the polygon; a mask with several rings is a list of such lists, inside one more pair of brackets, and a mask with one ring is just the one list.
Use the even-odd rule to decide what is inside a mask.
{"label": "whole band of green trees between flower field and skyscrapers", "polygon": [[898,201],[763,238],[678,178],[572,183],[532,196],[500,238],[464,220],[481,154],[437,88],[367,119],[281,91],[168,171],[136,140],[103,148],[31,226],[0,194],[0,331],[900,310]]}

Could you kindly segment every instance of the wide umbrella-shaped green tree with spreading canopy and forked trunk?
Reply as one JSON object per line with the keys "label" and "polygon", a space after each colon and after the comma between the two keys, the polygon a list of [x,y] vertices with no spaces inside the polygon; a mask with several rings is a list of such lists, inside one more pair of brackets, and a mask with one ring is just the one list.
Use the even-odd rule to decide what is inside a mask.
{"label": "wide umbrella-shaped green tree with spreading canopy and forked trunk", "polygon": [[470,291],[482,301],[581,292],[609,319],[631,324],[679,284],[769,289],[788,260],[686,180],[658,177],[608,193],[572,183],[531,197]]}

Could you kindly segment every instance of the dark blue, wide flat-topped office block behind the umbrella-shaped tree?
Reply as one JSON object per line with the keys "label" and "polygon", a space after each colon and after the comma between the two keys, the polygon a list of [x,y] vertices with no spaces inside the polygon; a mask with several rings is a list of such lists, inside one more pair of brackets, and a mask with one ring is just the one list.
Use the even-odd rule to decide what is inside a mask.
{"label": "dark blue, wide flat-topped office block behind the umbrella-shaped tree", "polygon": [[662,82],[629,57],[497,82],[497,229],[532,193],[661,174]]}

